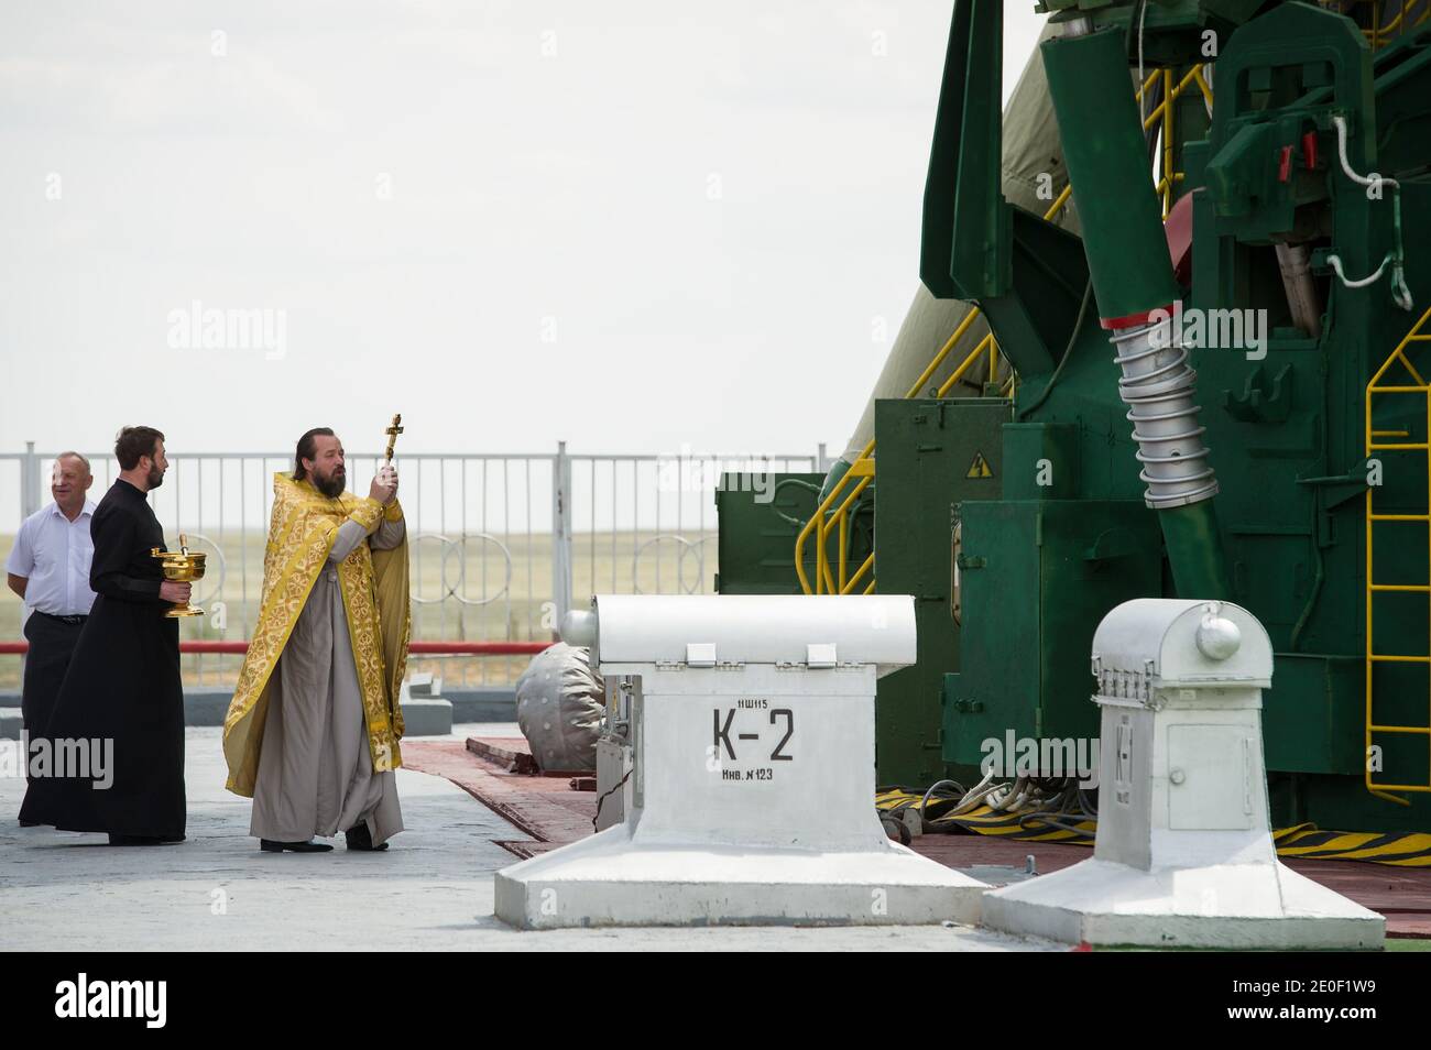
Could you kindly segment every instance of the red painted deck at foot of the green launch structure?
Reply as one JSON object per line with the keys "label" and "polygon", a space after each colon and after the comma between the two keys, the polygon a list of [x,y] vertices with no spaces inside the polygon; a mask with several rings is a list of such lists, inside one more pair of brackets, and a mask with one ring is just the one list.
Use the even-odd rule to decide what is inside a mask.
{"label": "red painted deck at foot of the green launch structure", "polygon": [[[597,795],[575,790],[578,774],[539,775],[531,768],[531,750],[521,738],[474,737],[458,741],[409,741],[402,745],[404,765],[452,781],[479,803],[501,814],[527,835],[499,840],[517,857],[534,857],[592,834]],[[590,777],[590,774],[587,774]],[[1092,855],[1086,845],[1027,843],[986,835],[920,835],[913,848],[947,867],[1025,867],[1033,854],[1040,874],[1066,868]],[[1387,917],[1388,937],[1431,937],[1431,868],[1398,868],[1344,860],[1284,861],[1322,885]],[[997,878],[979,873],[985,881]]]}

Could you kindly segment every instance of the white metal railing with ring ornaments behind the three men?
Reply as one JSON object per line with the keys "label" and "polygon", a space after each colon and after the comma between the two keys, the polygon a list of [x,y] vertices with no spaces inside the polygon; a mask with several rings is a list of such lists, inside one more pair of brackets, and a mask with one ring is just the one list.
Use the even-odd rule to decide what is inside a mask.
{"label": "white metal railing with ring ornaments behind the three men", "polygon": [[[19,522],[49,502],[54,451],[0,453],[0,556]],[[89,453],[97,502],[119,463]],[[348,458],[349,485],[366,492],[378,453]],[[747,478],[827,466],[816,455],[408,453],[394,458],[412,558],[412,637],[421,641],[545,641],[572,602],[611,594],[703,594],[716,572],[714,489]],[[183,622],[185,638],[246,639],[258,612],[272,475],[285,452],[169,453],[150,494],[170,545],[179,532],[209,552],[195,598],[210,615]],[[10,495],[13,494],[13,495]],[[220,612],[222,609],[222,612]],[[0,598],[0,638],[19,638],[20,605]],[[238,657],[185,655],[193,684],[228,685]],[[431,661],[431,662],[429,662]],[[499,685],[524,657],[424,657],[449,685]],[[19,661],[0,658],[0,688]]]}

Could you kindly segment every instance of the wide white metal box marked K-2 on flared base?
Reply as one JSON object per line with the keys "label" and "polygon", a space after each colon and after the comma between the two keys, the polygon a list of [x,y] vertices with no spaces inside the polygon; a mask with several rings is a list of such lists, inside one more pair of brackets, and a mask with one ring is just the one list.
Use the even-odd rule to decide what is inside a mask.
{"label": "wide white metal box marked K-2 on flared base", "polygon": [[630,720],[625,815],[499,871],[499,918],[525,928],[977,918],[987,887],[892,843],[874,810],[874,682],[914,662],[913,598],[602,595],[594,605],[582,641],[594,637]]}

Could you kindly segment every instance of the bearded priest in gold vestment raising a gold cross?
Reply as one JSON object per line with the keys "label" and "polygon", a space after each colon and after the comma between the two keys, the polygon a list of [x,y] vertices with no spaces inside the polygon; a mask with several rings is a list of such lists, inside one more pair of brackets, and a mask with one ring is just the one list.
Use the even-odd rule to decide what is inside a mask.
{"label": "bearded priest in gold vestment raising a gold cross", "polygon": [[366,498],[343,448],[309,431],[273,475],[259,617],[223,720],[228,788],[253,798],[269,853],[384,850],[402,831],[399,687],[408,659],[408,538],[391,465]]}

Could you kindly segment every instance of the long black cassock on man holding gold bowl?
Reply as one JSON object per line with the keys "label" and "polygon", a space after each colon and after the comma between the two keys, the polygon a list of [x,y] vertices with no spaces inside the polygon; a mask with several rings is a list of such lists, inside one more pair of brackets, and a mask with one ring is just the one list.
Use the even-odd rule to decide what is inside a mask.
{"label": "long black cassock on man holding gold bowl", "polygon": [[182,838],[179,621],[165,617],[173,607],[159,598],[163,572],[150,556],[165,546],[163,529],[145,494],[120,479],[94,509],[90,536],[97,597],[46,737],[112,740],[113,782],[99,790],[93,775],[31,778],[20,820],[62,831]]}

